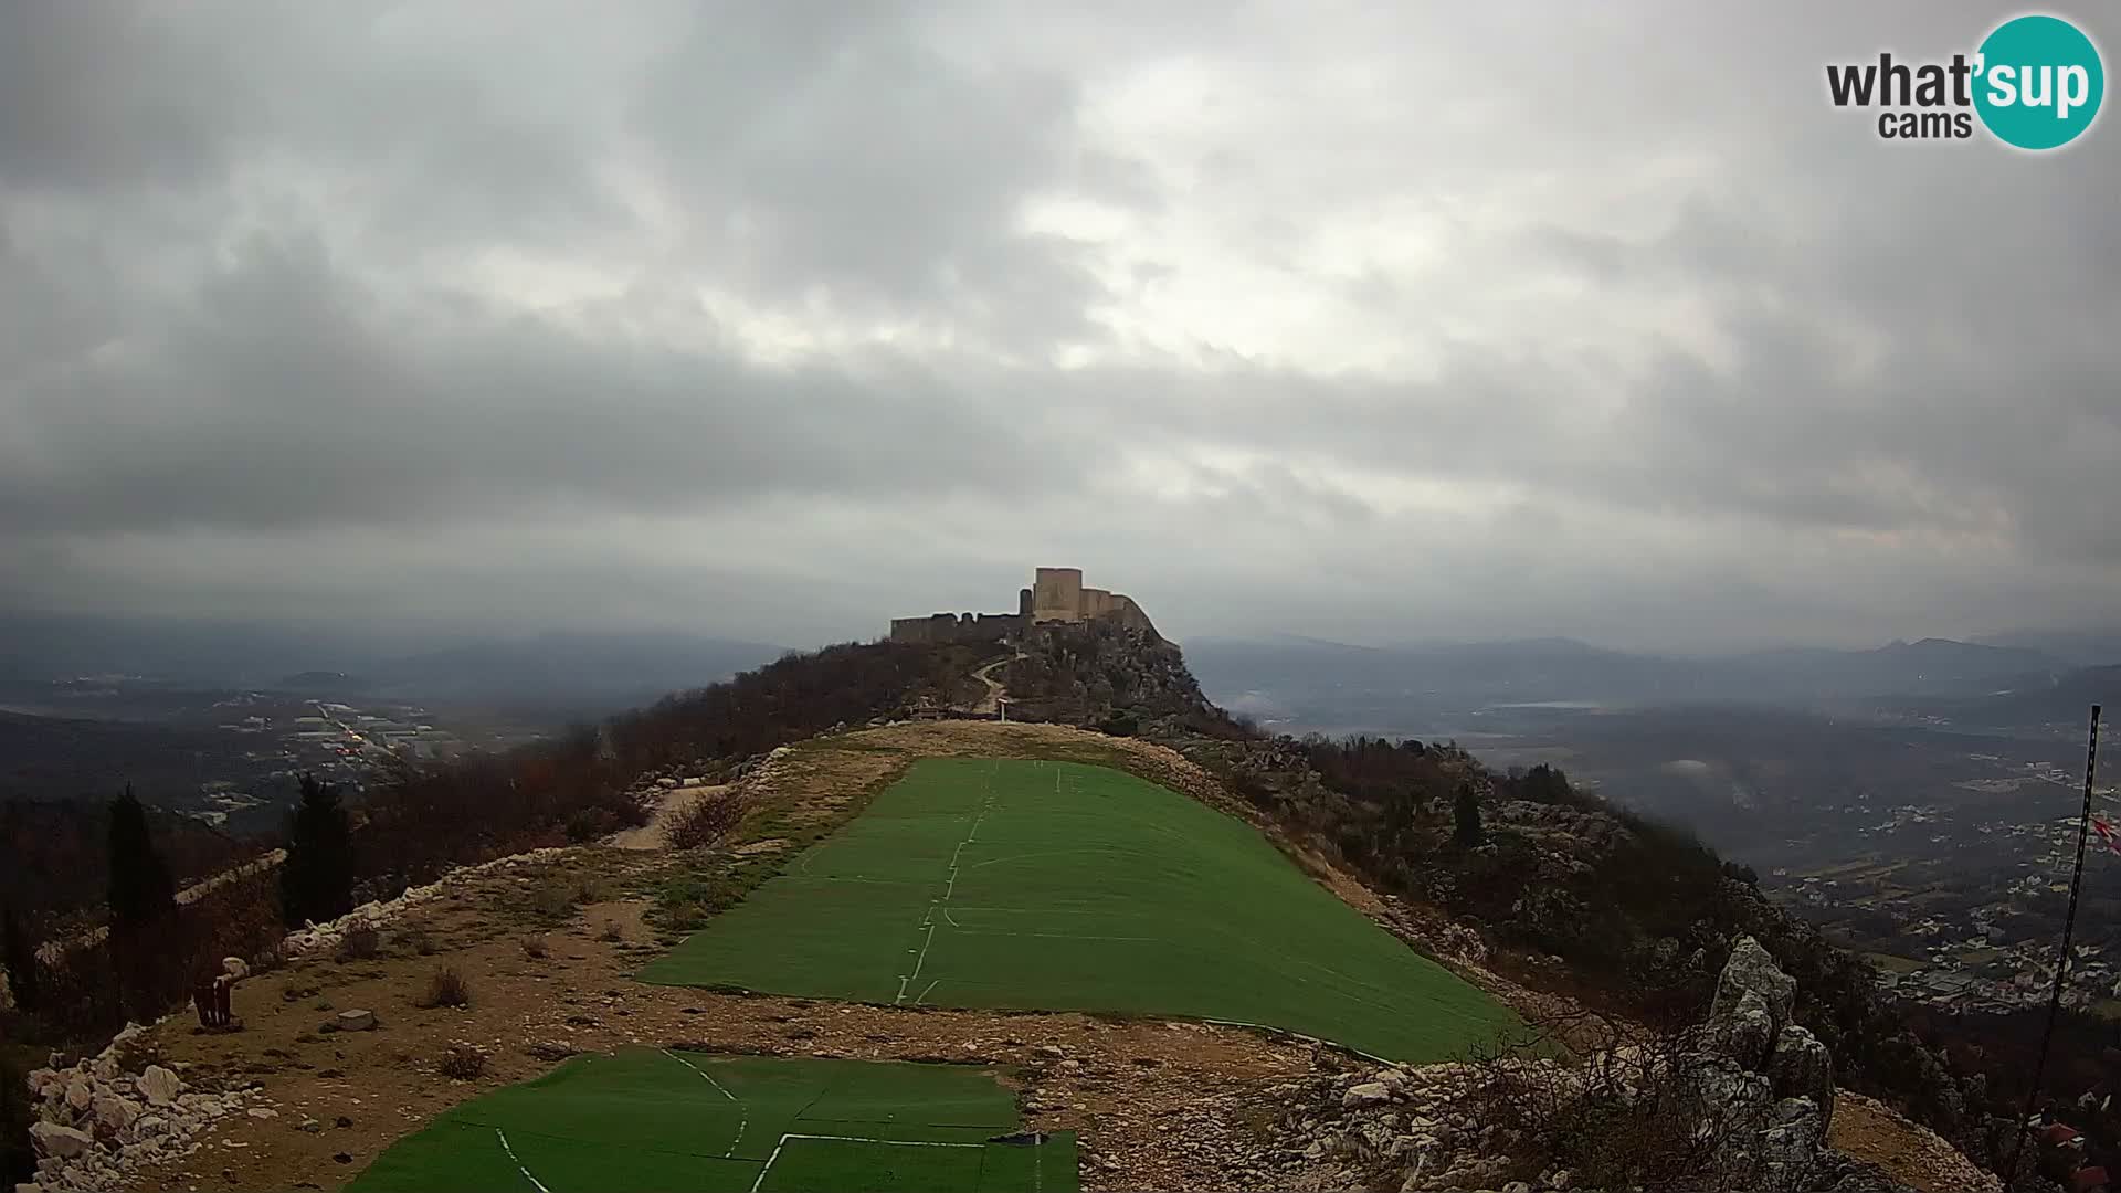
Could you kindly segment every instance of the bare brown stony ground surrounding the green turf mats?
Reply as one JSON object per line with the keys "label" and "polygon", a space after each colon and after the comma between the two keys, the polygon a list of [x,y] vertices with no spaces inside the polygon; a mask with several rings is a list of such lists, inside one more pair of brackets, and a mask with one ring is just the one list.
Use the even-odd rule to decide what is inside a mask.
{"label": "bare brown stony ground surrounding the green turf mats", "polygon": [[[1139,741],[986,722],[887,726],[749,768],[734,790],[759,815],[723,858],[827,832],[925,754],[1124,764],[1230,807],[1196,766]],[[1200,1023],[636,985],[630,974],[664,947],[649,915],[653,889],[674,872],[698,872],[702,858],[626,845],[636,847],[554,849],[458,872],[367,909],[363,919],[382,926],[375,934],[346,926],[297,934],[299,955],[238,983],[238,1032],[172,1017],[102,1057],[34,1074],[47,1119],[45,1185],[335,1189],[448,1106],[547,1072],[571,1053],[647,1044],[991,1064],[1020,1091],[1029,1125],[1077,1131],[1092,1191],[1584,1187],[1563,1168],[1527,1168],[1521,1146],[1512,1153],[1510,1138],[1478,1121],[1468,1100],[1476,1074],[1466,1066],[1381,1070],[1330,1047]],[[1315,860],[1307,868],[1408,938],[1447,934],[1421,909],[1377,900]],[[458,1006],[433,1004],[443,966],[467,989]],[[1788,1015],[1777,998],[1769,991],[1767,1023],[1756,1025],[1769,1047],[1782,1040],[1775,1015]],[[448,1076],[452,1053],[484,1057],[484,1072]],[[1758,1095],[1786,1078],[1811,1080],[1758,1076]],[[1894,1142],[1905,1123],[1883,1108],[1845,1095],[1839,1104],[1835,1144],[1850,1134],[1852,1153],[1926,1193],[1979,1189],[1956,1182],[1947,1157],[1920,1148],[1913,1134]],[[1809,1123],[1805,1155],[1824,1155],[1816,1134],[1824,1119]],[[1841,1193],[1858,1189],[1896,1187]]]}

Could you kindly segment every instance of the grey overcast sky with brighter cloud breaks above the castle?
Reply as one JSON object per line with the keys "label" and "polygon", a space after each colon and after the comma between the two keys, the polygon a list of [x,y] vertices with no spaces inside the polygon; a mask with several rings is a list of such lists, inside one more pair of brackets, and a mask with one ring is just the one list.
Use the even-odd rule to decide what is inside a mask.
{"label": "grey overcast sky with brighter cloud breaks above the castle", "polygon": [[[2121,49],[2106,4],[2049,8]],[[1989,4],[0,4],[0,603],[808,645],[2121,609],[2121,125]]]}

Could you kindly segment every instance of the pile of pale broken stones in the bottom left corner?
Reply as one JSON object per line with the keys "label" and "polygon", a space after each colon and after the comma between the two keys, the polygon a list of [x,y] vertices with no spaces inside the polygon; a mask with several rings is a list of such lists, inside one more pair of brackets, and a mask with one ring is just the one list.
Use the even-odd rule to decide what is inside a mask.
{"label": "pile of pale broken stones in the bottom left corner", "polygon": [[142,1165],[199,1151],[197,1136],[214,1121],[271,1112],[257,1089],[210,1093],[159,1064],[138,1066],[144,1032],[127,1023],[93,1059],[59,1068],[53,1055],[53,1068],[30,1072],[36,1180],[15,1193],[129,1189]]}

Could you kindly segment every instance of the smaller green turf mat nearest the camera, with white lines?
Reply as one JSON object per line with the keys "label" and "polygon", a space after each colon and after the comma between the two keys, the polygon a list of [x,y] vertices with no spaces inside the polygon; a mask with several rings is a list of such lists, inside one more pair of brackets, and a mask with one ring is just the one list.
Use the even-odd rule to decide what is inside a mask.
{"label": "smaller green turf mat nearest the camera, with white lines", "polygon": [[443,1112],[348,1191],[1073,1193],[1075,1138],[1016,1129],[984,1068],[628,1049]]}

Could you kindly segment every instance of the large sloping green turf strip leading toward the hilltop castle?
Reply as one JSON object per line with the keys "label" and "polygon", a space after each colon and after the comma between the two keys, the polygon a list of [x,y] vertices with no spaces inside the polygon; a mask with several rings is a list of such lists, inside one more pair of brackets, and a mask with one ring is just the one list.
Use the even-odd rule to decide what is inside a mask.
{"label": "large sloping green turf strip leading toward the hilltop castle", "polygon": [[1251,826],[1105,766],[929,758],[641,981],[1285,1027],[1404,1061],[1517,1019]]}

